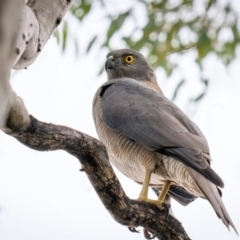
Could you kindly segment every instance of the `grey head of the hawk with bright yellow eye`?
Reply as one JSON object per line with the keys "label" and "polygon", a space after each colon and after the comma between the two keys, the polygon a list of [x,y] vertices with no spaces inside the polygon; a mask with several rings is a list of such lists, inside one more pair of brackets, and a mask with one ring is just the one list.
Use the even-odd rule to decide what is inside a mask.
{"label": "grey head of the hawk with bright yellow eye", "polygon": [[137,81],[156,83],[155,73],[147,60],[141,53],[131,49],[120,49],[108,53],[105,69],[108,80],[132,78]]}

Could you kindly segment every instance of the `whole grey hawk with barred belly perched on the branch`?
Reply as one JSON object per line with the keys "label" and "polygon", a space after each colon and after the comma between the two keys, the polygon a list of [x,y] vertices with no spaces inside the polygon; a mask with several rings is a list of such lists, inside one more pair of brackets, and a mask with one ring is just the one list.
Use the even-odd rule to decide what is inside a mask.
{"label": "whole grey hawk with barred belly perched on the branch", "polygon": [[[164,96],[146,59],[130,49],[116,50],[107,55],[105,69],[108,80],[93,101],[96,130],[112,164],[142,184],[139,200],[161,209],[167,193],[184,205],[203,197],[237,233],[205,137]],[[161,189],[158,200],[148,199],[149,186]]]}

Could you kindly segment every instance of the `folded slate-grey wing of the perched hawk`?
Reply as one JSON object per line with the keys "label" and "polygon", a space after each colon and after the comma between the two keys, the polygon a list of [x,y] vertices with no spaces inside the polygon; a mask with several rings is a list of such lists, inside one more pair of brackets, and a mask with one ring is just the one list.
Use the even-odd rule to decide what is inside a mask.
{"label": "folded slate-grey wing of the perched hawk", "polygon": [[134,79],[103,85],[105,124],[132,141],[172,156],[214,184],[221,178],[209,166],[209,147],[199,128],[162,93]]}

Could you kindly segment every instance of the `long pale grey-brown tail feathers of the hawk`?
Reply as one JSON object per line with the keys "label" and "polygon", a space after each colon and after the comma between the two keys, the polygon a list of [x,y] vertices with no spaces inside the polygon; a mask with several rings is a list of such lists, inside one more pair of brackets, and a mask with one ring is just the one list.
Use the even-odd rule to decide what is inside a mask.
{"label": "long pale grey-brown tail feathers of the hawk", "polygon": [[200,173],[193,170],[192,168],[188,167],[188,172],[193,178],[193,180],[196,182],[200,190],[203,192],[205,197],[211,203],[217,216],[222,219],[223,223],[227,226],[228,229],[229,229],[229,226],[231,226],[238,235],[237,229],[235,228],[223,204],[223,201],[221,199],[221,196],[218,192],[217,187],[213,183],[211,183],[209,180],[207,180],[204,176],[202,176]]}

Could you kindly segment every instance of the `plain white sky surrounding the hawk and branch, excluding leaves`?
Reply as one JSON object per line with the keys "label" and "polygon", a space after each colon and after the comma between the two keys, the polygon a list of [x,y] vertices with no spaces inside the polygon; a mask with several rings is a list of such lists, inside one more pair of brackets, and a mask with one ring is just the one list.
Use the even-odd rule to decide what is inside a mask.
{"label": "plain white sky surrounding the hawk and branch, excluding leaves", "polygon": [[[98,17],[101,16],[99,13]],[[39,58],[27,70],[13,74],[12,87],[34,117],[41,121],[66,125],[97,137],[92,120],[92,99],[106,75],[97,75],[107,52],[93,48],[84,55],[84,44],[94,32],[89,26],[96,18],[72,29],[79,31],[80,58],[74,57],[69,42],[65,54],[51,38]],[[103,22],[102,27],[106,27]],[[99,29],[97,31],[100,31]],[[118,44],[118,47],[123,45]],[[209,56],[205,74],[209,91],[199,104],[186,104],[189,93],[199,91],[199,70],[193,64],[194,53],[172,56],[180,62],[178,74],[188,80],[175,103],[198,124],[205,134],[214,160],[212,166],[223,178],[223,202],[240,231],[240,58],[225,71],[221,62]],[[158,81],[171,98],[177,76],[166,79],[157,71]],[[86,174],[79,172],[78,160],[63,151],[37,152],[0,132],[0,239],[1,240],[97,240],[144,239],[116,223],[96,195]],[[116,170],[130,198],[137,198],[140,186]],[[154,194],[151,194],[154,197]],[[218,219],[210,203],[197,199],[184,207],[177,202],[172,209],[189,236],[195,240],[234,240]]]}

